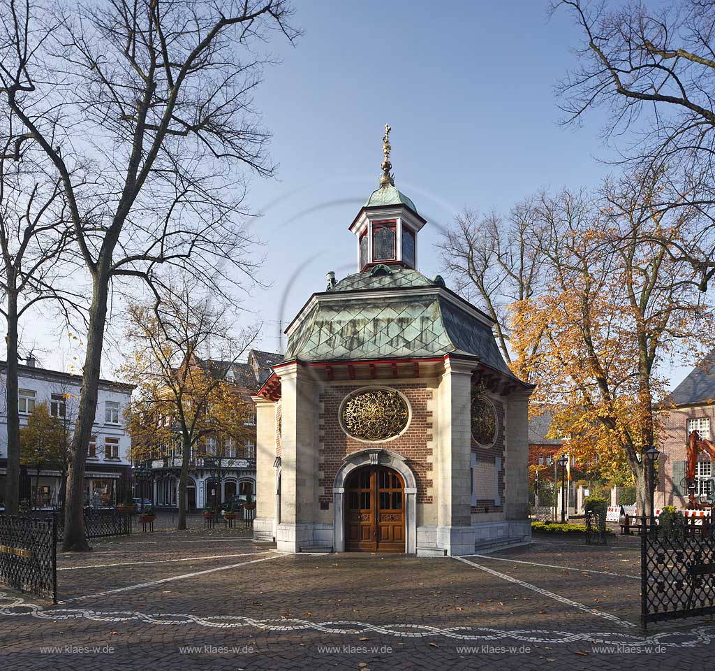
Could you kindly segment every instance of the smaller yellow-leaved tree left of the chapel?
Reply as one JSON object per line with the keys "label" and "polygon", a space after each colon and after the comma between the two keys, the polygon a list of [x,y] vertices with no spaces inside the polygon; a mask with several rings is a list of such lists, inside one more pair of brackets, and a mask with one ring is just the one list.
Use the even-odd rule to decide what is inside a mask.
{"label": "smaller yellow-leaved tree left of the chapel", "polygon": [[[179,461],[178,529],[186,529],[191,460],[220,463],[229,444],[245,444],[245,421],[254,414],[245,391],[227,380],[252,339],[230,334],[229,313],[178,282],[154,303],[128,308],[132,353],[121,370],[137,385],[126,411],[132,461]],[[215,439],[215,448],[207,439]]]}

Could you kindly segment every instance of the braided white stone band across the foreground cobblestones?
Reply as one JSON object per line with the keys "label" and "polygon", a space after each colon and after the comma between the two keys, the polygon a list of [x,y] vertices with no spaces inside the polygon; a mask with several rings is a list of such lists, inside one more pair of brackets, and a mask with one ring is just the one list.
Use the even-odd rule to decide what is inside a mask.
{"label": "braided white stone band across the foreground cobblestones", "polygon": [[[518,642],[549,645],[588,642],[596,645],[629,645],[644,647],[698,647],[715,642],[715,625],[694,627],[678,632],[659,632],[651,636],[631,635],[625,632],[567,632],[546,630],[500,630],[490,627],[430,627],[428,625],[372,625],[369,622],[340,620],[334,622],[311,622],[298,618],[256,619],[240,615],[197,616],[188,613],[141,613],[136,611],[97,611],[81,608],[45,608],[24,601],[6,592],[0,592],[0,617],[36,617],[39,619],[89,619],[94,622],[130,622],[137,620],[145,625],[177,626],[198,625],[217,629],[255,627],[272,632],[296,632],[314,630],[334,635],[358,635],[373,632],[398,638],[442,636],[459,641],[515,640]],[[671,640],[673,639],[673,640]]]}

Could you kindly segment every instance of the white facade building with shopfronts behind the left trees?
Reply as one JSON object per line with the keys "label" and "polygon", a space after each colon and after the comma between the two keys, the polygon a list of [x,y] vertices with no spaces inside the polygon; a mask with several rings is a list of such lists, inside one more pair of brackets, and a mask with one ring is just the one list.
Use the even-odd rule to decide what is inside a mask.
{"label": "white facade building with shopfronts behind the left trees", "polygon": [[[32,410],[46,403],[51,416],[74,428],[79,406],[82,377],[50,371],[35,365],[28,358],[19,368],[20,428],[26,425]],[[6,362],[0,361],[0,505],[5,500],[7,472]],[[111,506],[121,502],[131,479],[129,449],[131,439],[124,429],[124,408],[132,396],[132,385],[102,380],[99,382],[97,415],[94,418],[92,441],[87,446],[85,503]],[[39,506],[59,505],[64,491],[61,469],[41,469],[31,464],[21,468],[20,499],[37,501]]]}

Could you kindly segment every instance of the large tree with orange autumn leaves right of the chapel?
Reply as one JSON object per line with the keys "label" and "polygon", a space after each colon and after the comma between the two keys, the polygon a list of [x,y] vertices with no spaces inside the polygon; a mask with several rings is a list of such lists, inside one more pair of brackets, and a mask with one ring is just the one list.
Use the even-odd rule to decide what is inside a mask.
{"label": "large tree with orange autumn leaves right of the chapel", "polygon": [[649,167],[595,194],[541,195],[528,230],[538,291],[507,308],[510,366],[536,384],[531,413],[551,413],[551,435],[568,437],[577,464],[597,456],[604,478],[632,478],[646,512],[645,453],[667,407],[669,361],[715,346],[708,297],[670,251],[697,235],[701,215],[654,207],[669,184]]}

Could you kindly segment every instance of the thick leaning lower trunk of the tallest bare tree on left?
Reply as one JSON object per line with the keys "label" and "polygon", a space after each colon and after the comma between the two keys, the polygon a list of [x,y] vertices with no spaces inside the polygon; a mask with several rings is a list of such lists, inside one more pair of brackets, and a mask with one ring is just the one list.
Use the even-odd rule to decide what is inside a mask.
{"label": "thick leaning lower trunk of the tallest bare tree on left", "polygon": [[84,537],[84,469],[92,424],[97,415],[97,389],[102,366],[104,328],[107,323],[109,273],[97,271],[92,281],[92,307],[89,309],[87,354],[82,369],[82,391],[79,396],[77,423],[74,427],[67,472],[67,500],[64,511],[62,552],[89,552]]}

